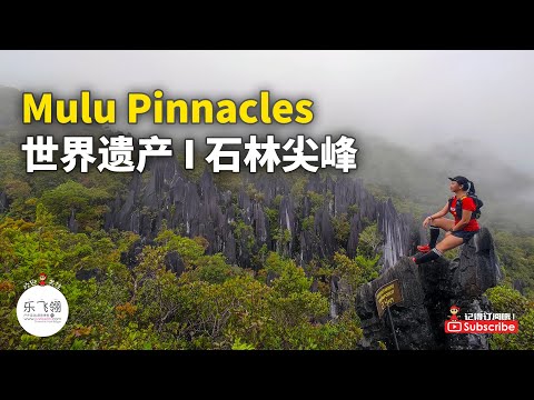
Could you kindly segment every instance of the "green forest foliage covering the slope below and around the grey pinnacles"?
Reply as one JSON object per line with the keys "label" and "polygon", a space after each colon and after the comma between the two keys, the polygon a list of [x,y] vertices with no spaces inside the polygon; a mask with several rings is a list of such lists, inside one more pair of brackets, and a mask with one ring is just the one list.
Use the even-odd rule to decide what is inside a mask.
{"label": "green forest foliage covering the slope below and around the grey pinnacles", "polygon": [[[0,349],[357,348],[362,329],[354,312],[345,312],[336,321],[326,318],[328,282],[337,274],[357,287],[378,276],[376,224],[369,223],[362,232],[354,259],[343,251],[348,236],[344,216],[333,220],[339,246],[333,260],[316,260],[303,269],[280,253],[263,251],[257,254],[257,271],[231,266],[220,253],[206,254],[204,238],[162,229],[156,246],[145,247],[137,264],[128,268],[120,256],[138,236],[102,230],[107,203],[126,188],[123,176],[97,171],[67,174],[61,170],[28,174],[19,150],[19,127],[6,118],[1,121],[0,193],[7,194],[10,206],[0,214]],[[87,129],[91,134],[101,133]],[[291,179],[291,196],[301,198],[305,178],[295,174]],[[243,184],[239,176],[215,181],[230,189]],[[376,197],[392,198],[398,210],[418,218],[432,202],[407,198],[392,186],[373,182],[367,187]],[[254,186],[247,191],[263,196]],[[312,207],[325,200],[317,193],[307,196]],[[79,233],[66,229],[72,210]],[[268,209],[266,212],[269,217]],[[312,220],[301,222],[303,227],[313,226]],[[497,308],[517,309],[520,323],[530,327],[534,237],[515,228],[513,223],[491,227],[505,281],[488,296]],[[246,227],[236,224],[235,229],[239,234]],[[280,241],[285,233],[278,233]],[[179,277],[166,266],[170,252],[178,252],[186,264]],[[70,329],[39,339],[18,324],[14,304],[23,283],[42,271],[62,282],[71,314]],[[314,281],[317,290],[310,291]],[[532,349],[534,339],[527,333],[496,336],[492,347]]]}

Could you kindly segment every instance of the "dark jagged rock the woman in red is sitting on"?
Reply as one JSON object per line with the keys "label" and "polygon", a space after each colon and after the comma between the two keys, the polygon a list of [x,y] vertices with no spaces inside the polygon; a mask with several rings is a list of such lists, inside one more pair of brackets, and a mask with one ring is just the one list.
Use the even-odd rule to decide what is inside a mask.
{"label": "dark jagged rock the woman in red is sitting on", "polygon": [[400,349],[487,349],[487,334],[447,334],[444,323],[449,308],[467,312],[491,312],[483,294],[502,279],[490,231],[483,228],[461,249],[459,258],[441,258],[416,266],[402,258],[380,278],[357,290],[356,312],[362,319],[365,346],[376,348],[378,341],[394,349],[394,340],[386,314],[378,318],[375,292],[383,284],[398,279],[403,302],[390,308]]}

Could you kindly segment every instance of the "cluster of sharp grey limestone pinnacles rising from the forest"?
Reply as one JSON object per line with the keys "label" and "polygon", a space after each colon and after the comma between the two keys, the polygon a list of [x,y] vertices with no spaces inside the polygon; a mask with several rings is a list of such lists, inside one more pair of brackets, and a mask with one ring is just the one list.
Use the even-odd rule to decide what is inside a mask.
{"label": "cluster of sharp grey limestone pinnacles rising from the forest", "polygon": [[[349,221],[346,248],[350,257],[356,254],[363,229],[378,222],[384,237],[384,270],[408,254],[417,242],[412,217],[399,214],[390,201],[376,200],[360,179],[344,176],[335,181],[310,174],[304,197],[297,200],[283,176],[249,174],[239,192],[231,193],[219,190],[208,171],[194,182],[175,159],[152,161],[142,174],[134,176],[127,193],[109,204],[106,229],[130,230],[154,239],[165,220],[169,229],[184,236],[206,238],[207,253],[222,252],[229,262],[240,267],[254,267],[263,246],[300,264],[314,257],[332,257],[338,249],[332,223],[335,216]],[[247,193],[248,183],[261,193],[260,198]],[[314,207],[310,192],[324,201]],[[269,219],[267,209],[276,211],[275,219]],[[312,221],[312,217],[313,223],[304,229],[303,221]]]}

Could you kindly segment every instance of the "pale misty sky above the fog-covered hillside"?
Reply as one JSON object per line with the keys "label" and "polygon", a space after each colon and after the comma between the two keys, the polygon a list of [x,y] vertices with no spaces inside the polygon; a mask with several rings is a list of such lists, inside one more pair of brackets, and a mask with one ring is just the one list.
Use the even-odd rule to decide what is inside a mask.
{"label": "pale misty sky above the fog-covered hillside", "polygon": [[435,152],[468,139],[474,151],[534,170],[534,51],[0,51],[0,84],[91,89],[119,104],[130,90],[238,100],[269,89],[314,99],[314,131],[352,129]]}

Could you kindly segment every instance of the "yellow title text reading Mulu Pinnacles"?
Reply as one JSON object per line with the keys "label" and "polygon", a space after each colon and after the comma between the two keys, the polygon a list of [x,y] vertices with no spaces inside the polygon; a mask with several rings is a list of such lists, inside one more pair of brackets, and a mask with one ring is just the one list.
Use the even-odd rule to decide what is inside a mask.
{"label": "yellow title text reading Mulu Pinnacles", "polygon": [[[142,116],[151,116],[152,123],[220,123],[244,122],[307,124],[314,120],[314,101],[300,99],[271,100],[268,90],[261,90],[257,99],[234,101],[220,99],[165,99],[162,90],[151,94],[128,93],[128,123],[138,123]],[[32,92],[22,94],[23,123],[116,123],[116,99],[91,99],[89,90],[80,92],[79,99],[55,99],[51,92],[36,97]]]}

